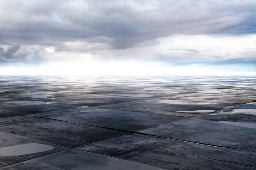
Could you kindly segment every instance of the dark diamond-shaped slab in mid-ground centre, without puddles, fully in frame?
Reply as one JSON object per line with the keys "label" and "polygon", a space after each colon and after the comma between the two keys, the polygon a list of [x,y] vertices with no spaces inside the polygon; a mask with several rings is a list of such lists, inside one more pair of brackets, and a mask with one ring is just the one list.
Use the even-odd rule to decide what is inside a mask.
{"label": "dark diamond-shaped slab in mid-ground centre, without puddles, fully in frame", "polygon": [[129,131],[138,131],[187,118],[182,116],[132,112],[121,109],[97,109],[44,117]]}

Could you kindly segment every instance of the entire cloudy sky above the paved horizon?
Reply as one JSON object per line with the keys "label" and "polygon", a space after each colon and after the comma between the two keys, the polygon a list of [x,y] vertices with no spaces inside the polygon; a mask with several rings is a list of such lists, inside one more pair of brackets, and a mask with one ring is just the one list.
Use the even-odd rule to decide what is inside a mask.
{"label": "entire cloudy sky above the paved horizon", "polygon": [[0,74],[256,75],[256,1],[1,0]]}

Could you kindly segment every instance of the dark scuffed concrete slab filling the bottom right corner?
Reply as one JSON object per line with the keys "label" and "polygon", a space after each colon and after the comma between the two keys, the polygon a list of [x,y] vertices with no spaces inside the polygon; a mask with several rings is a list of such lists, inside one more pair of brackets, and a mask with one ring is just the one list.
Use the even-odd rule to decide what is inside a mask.
{"label": "dark scuffed concrete slab filling the bottom right corner", "polygon": [[[234,169],[256,167],[256,153],[230,148],[213,147],[179,140],[142,134],[128,134],[78,148],[93,153],[109,155],[138,163],[172,169]],[[205,159],[207,158],[207,159]],[[239,158],[239,159],[238,159]],[[219,160],[219,161],[216,161]],[[237,165],[236,165],[237,164]],[[244,165],[239,166],[238,164]],[[228,169],[227,167],[227,169]],[[236,168],[235,168],[236,167]],[[229,167],[232,169],[232,166]]]}

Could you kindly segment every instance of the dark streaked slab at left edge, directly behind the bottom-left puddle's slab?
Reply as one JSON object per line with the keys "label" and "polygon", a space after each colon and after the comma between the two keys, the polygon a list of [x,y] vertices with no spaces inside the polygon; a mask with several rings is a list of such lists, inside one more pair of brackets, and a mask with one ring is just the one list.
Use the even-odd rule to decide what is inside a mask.
{"label": "dark streaked slab at left edge, directly behind the bottom-left puddle's slab", "polygon": [[118,130],[33,116],[0,122],[0,130],[66,147],[76,147],[127,134]]}

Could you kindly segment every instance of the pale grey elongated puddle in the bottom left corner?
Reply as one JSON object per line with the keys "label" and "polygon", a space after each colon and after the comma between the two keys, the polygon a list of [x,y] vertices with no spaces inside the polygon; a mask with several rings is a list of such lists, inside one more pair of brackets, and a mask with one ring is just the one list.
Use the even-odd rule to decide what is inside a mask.
{"label": "pale grey elongated puddle in the bottom left corner", "polygon": [[0,148],[0,156],[18,156],[32,153],[45,152],[54,147],[39,143],[27,143]]}

